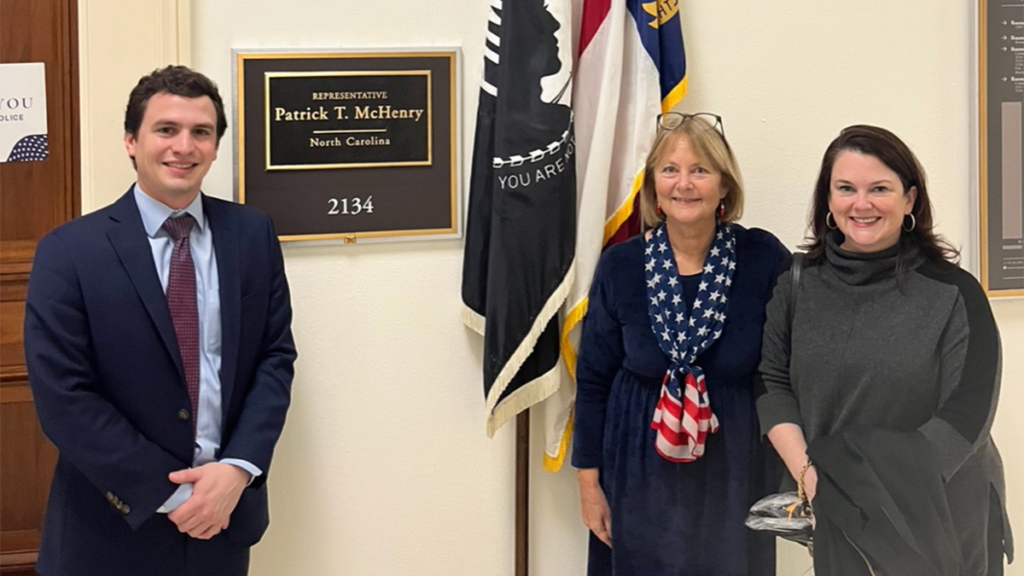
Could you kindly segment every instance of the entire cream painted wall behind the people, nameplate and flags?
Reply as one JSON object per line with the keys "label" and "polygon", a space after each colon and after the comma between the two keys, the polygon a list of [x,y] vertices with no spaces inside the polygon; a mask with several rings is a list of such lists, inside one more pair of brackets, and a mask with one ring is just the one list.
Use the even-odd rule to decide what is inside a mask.
{"label": "entire cream painted wall behind the people, nameplate and flags", "polygon": [[[88,6],[83,59],[92,63],[83,75],[83,101],[92,102],[85,118],[91,139],[83,149],[95,147],[83,150],[86,210],[130,181],[120,111],[140,74],[170,61],[167,34],[183,34],[171,42],[184,53],[175,57],[190,50],[193,64],[225,94],[232,47],[462,46],[469,158],[482,0],[196,1],[186,32],[153,25],[170,22],[156,15],[167,13],[166,2],[82,4]],[[187,12],[187,2],[181,4]],[[690,71],[683,108],[724,116],[750,191],[744,223],[771,230],[790,246],[799,243],[825,146],[845,125],[876,123],[919,154],[940,230],[965,247],[970,262],[977,244],[972,3],[762,4],[682,7]],[[142,7],[150,11],[136,13]],[[119,30],[134,32],[138,23],[165,36],[140,42],[145,34]],[[113,104],[104,108],[108,98]],[[225,139],[208,193],[231,195],[232,154]],[[511,575],[512,430],[493,441],[483,435],[479,340],[458,320],[462,243],[289,245],[285,256],[300,357],[271,480],[273,522],[254,551],[254,576]],[[992,307],[1005,355],[995,437],[1007,462],[1011,517],[1019,524],[1024,442],[1014,420],[1015,409],[1024,407],[1018,352],[1024,301]],[[530,574],[582,575],[586,534],[573,472],[542,471],[540,452],[536,442]],[[809,562],[783,547],[780,565],[780,575],[797,576]],[[1024,575],[1024,568],[1008,574]]]}

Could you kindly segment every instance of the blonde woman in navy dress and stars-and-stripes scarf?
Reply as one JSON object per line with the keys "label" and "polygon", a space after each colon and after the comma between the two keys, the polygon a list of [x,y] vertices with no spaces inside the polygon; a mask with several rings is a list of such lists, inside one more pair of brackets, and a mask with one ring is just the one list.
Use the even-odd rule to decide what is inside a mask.
{"label": "blonde woman in navy dress and stars-and-stripes scarf", "polygon": [[754,380],[765,304],[788,251],[736,223],[743,188],[721,118],[658,118],[640,192],[646,233],[609,248],[577,372],[572,465],[589,575],[767,576],[748,530],[774,488]]}

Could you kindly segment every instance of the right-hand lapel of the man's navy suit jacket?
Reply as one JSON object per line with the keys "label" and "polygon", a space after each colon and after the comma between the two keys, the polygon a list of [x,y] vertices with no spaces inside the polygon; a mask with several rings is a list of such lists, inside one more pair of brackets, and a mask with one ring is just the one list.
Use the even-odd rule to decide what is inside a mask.
{"label": "right-hand lapel of the man's navy suit jacket", "polygon": [[236,220],[228,204],[203,196],[203,211],[213,232],[220,284],[220,396],[224,410],[230,406],[239,362],[239,331],[242,321],[242,273]]}

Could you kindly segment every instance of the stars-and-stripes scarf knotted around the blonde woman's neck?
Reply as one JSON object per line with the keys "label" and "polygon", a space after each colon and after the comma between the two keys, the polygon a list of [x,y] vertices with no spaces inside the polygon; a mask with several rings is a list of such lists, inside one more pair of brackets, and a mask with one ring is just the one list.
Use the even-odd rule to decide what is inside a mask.
{"label": "stars-and-stripes scarf knotted around the blonde woman's neck", "polygon": [[715,232],[689,316],[665,223],[646,241],[644,269],[650,327],[662,351],[672,359],[650,422],[656,430],[654,449],[667,460],[692,462],[703,454],[707,436],[718,431],[703,370],[694,363],[722,335],[725,325],[727,295],[736,270],[732,228],[719,224]]}

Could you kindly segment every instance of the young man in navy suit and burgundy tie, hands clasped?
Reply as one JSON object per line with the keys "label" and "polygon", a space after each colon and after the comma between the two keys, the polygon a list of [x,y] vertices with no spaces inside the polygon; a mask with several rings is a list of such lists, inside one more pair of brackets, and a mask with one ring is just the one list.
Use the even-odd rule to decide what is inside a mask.
{"label": "young man in navy suit and burgundy tie, hands clasped", "polygon": [[226,128],[202,74],[143,77],[137,181],[39,242],[25,349],[59,451],[43,576],[243,575],[266,530],[292,310],[270,219],[201,192]]}

